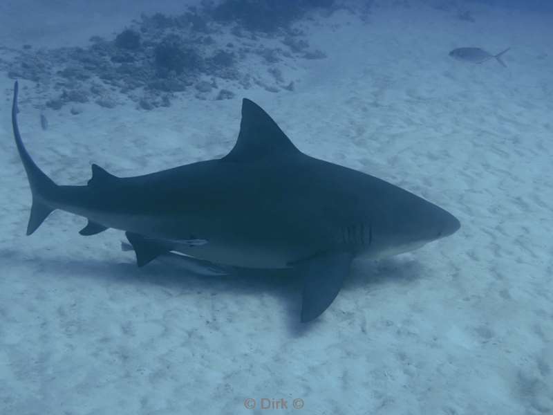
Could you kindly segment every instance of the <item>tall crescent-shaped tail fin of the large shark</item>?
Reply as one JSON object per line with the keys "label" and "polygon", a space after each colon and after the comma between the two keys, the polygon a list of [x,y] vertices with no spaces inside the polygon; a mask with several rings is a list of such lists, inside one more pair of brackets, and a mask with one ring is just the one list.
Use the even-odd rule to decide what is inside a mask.
{"label": "tall crescent-shaped tail fin of the large shark", "polygon": [[56,192],[57,185],[51,178],[39,169],[39,167],[32,160],[30,155],[21,140],[21,134],[19,133],[19,126],[17,125],[17,95],[19,92],[19,84],[16,81],[13,90],[13,105],[12,105],[12,126],[13,135],[15,138],[15,144],[17,145],[17,151],[19,151],[19,157],[21,163],[25,167],[27,178],[32,193],[32,206],[30,208],[30,218],[27,226],[27,234],[30,235],[35,232],[41,223],[48,217],[48,215],[55,210],[48,203],[48,199],[52,199],[51,196]]}

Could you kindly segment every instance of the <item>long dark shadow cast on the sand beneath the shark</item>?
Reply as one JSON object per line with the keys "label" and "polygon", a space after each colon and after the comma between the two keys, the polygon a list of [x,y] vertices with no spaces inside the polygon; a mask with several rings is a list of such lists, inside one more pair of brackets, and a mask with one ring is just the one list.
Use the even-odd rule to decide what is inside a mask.
{"label": "long dark shadow cast on the sand beneath the shark", "polygon": [[[68,270],[79,270],[72,275],[75,278],[104,279],[111,284],[133,284],[144,286],[162,286],[169,291],[186,290],[187,293],[209,292],[235,293],[236,295],[259,295],[267,293],[285,303],[288,330],[292,336],[305,335],[319,324],[328,324],[322,317],[308,323],[301,323],[301,275],[293,268],[288,270],[258,270],[234,268],[229,275],[197,275],[182,270],[174,261],[159,259],[144,268],[138,268],[130,256],[125,262],[100,261],[83,257],[82,259],[54,259],[52,257],[34,257],[16,250],[0,250],[0,260],[17,261],[29,264],[37,273],[67,275]],[[424,274],[424,267],[415,260],[395,258],[380,261],[357,260],[352,264],[351,272],[344,281],[342,291],[363,290],[388,282],[410,284]],[[321,275],[324,277],[324,275]],[[370,290],[373,291],[373,290]],[[368,291],[368,292],[370,292]]]}

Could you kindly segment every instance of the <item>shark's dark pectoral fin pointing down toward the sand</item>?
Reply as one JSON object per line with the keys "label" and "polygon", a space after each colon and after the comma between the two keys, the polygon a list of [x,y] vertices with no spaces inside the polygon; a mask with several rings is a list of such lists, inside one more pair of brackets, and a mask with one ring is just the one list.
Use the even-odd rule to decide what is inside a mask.
{"label": "shark's dark pectoral fin pointing down toward the sand", "polygon": [[347,252],[315,257],[301,264],[305,267],[301,322],[309,322],[321,315],[338,295],[348,275],[353,255]]}

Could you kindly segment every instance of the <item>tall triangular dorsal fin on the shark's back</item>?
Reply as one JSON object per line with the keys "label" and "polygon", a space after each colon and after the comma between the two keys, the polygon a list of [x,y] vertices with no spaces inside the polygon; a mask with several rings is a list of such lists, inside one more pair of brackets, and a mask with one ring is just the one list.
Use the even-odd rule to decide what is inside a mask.
{"label": "tall triangular dorsal fin on the shark's back", "polygon": [[238,140],[222,160],[247,163],[297,153],[299,150],[269,114],[253,101],[244,98]]}

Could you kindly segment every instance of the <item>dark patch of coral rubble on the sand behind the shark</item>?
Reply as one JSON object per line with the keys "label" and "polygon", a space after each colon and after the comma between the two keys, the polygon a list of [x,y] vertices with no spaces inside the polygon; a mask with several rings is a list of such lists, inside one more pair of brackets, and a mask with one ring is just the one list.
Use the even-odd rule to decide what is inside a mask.
{"label": "dark patch of coral rubble on the sand behind the shark", "polygon": [[[233,93],[225,87],[290,90],[293,82],[274,76],[279,73],[274,66],[295,57],[324,57],[319,50],[310,50],[306,36],[294,23],[309,10],[333,10],[334,3],[223,0],[213,6],[205,2],[181,15],[143,15],[114,39],[93,37],[85,48],[26,47],[0,69],[6,69],[10,77],[37,82],[44,91],[54,89],[55,98],[48,101],[53,109],[84,102],[85,96],[111,108],[120,102],[115,97],[120,93],[138,107],[151,109],[169,104],[175,93],[187,90],[201,99],[229,98]],[[272,47],[263,43],[268,37]],[[250,62],[261,62],[267,68],[260,71]]]}

